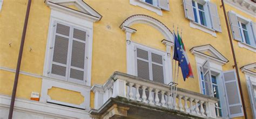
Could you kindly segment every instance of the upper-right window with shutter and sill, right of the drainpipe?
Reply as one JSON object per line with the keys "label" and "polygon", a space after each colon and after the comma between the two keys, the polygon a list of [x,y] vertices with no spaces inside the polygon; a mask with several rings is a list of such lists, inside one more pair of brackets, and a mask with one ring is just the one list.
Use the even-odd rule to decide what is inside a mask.
{"label": "upper-right window with shutter and sill, right of the drainpipe", "polygon": [[248,50],[256,51],[256,29],[252,20],[238,15],[233,11],[228,12],[233,39],[246,45],[239,45]]}

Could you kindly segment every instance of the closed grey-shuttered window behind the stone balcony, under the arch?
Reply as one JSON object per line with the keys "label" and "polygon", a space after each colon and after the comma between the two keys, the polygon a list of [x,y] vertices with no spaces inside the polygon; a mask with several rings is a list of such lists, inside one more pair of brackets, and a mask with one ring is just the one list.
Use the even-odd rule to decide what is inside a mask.
{"label": "closed grey-shuttered window behind the stone balcony, under the arch", "polygon": [[136,48],[137,76],[164,83],[163,54]]}

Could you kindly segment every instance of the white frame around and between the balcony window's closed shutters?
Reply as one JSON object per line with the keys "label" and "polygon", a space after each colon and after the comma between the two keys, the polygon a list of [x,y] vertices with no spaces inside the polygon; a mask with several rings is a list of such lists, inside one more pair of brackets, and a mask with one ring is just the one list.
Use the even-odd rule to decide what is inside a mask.
{"label": "white frame around and between the balcony window's closed shutters", "polygon": [[[148,56],[149,56],[149,60],[145,60],[143,58],[138,58],[137,57],[137,48],[141,49],[141,50],[144,50],[144,51],[147,51],[148,53]],[[152,57],[151,57],[151,53],[154,53],[154,54],[158,54],[158,55],[161,55],[162,57],[162,60],[163,60],[163,64],[158,64],[157,62],[153,62],[152,61]],[[143,45],[139,45],[139,44],[136,44],[134,43],[134,62],[135,62],[135,75],[138,76],[138,64],[137,64],[137,60],[142,60],[142,61],[146,61],[149,63],[149,77],[151,81],[153,81],[153,72],[152,72],[152,64],[154,65],[158,65],[158,66],[162,66],[163,67],[163,75],[164,75],[164,82],[163,83],[167,83],[166,82],[166,66],[165,66],[165,56],[166,53],[165,52],[162,52],[162,51],[159,51],[159,50],[156,50],[154,48],[151,48],[151,47],[147,47],[147,46],[143,46]]]}

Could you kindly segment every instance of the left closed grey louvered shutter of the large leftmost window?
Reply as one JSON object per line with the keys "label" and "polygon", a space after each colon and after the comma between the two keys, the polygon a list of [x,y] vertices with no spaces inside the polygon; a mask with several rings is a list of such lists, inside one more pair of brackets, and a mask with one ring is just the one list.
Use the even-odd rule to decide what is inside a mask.
{"label": "left closed grey louvered shutter of the large leftmost window", "polygon": [[56,25],[51,74],[66,77],[70,27],[59,23]]}

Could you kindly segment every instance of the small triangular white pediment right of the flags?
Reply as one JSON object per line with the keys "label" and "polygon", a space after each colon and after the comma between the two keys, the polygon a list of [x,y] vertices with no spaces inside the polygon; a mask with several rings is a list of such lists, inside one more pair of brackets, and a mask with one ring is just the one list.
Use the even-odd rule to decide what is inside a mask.
{"label": "small triangular white pediment right of the flags", "polygon": [[192,47],[190,52],[198,57],[209,59],[220,65],[224,65],[228,62],[228,60],[210,44]]}

